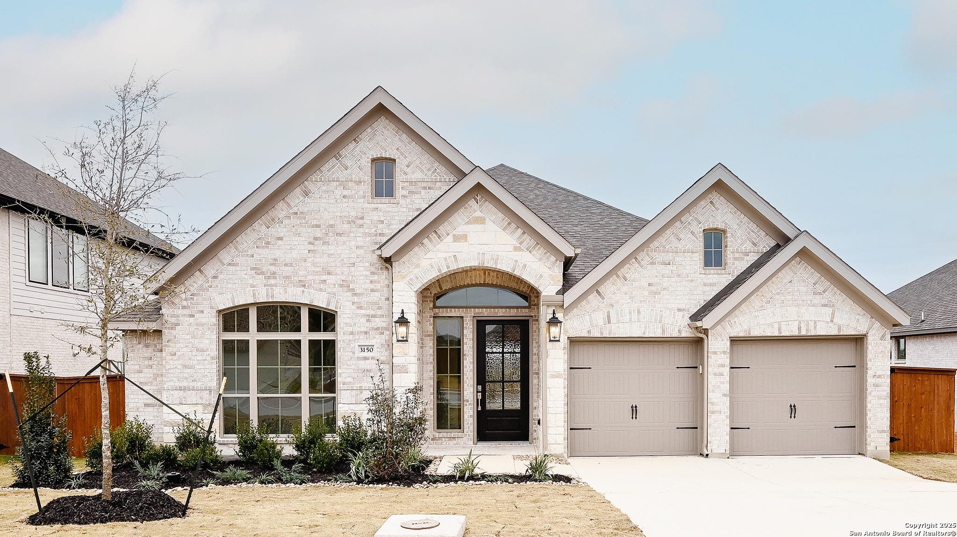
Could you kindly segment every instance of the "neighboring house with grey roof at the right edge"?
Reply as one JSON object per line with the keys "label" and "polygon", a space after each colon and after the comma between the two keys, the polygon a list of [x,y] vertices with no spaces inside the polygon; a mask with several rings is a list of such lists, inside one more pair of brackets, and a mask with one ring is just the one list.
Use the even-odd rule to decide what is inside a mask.
{"label": "neighboring house with grey roof at the right edge", "polygon": [[910,314],[891,331],[894,365],[957,369],[957,260],[887,296]]}

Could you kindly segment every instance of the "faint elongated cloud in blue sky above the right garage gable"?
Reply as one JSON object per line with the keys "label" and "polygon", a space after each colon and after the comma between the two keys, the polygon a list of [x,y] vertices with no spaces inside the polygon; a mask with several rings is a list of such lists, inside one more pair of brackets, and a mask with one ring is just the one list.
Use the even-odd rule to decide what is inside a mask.
{"label": "faint elongated cloud in blue sky above the right garage gable", "polygon": [[939,98],[932,92],[901,92],[872,100],[832,97],[792,113],[783,127],[790,134],[812,138],[855,137],[916,118],[938,104]]}

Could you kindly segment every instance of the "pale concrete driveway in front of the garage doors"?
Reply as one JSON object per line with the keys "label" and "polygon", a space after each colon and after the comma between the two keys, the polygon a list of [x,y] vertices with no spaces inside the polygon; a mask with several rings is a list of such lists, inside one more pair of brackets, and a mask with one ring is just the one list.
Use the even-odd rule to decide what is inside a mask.
{"label": "pale concrete driveway in front of the garage doors", "polygon": [[[578,475],[648,537],[957,535],[957,483],[864,457],[574,457]],[[906,533],[904,533],[906,534]]]}

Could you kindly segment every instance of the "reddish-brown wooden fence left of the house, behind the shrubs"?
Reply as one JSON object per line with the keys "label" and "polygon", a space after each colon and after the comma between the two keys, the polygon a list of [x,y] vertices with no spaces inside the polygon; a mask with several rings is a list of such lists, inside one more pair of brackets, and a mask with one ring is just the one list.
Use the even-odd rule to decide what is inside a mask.
{"label": "reddish-brown wooden fence left of the house, behind the shrubs", "polygon": [[[3,376],[0,373],[0,376]],[[23,416],[24,380],[25,375],[11,375],[13,393],[20,406],[20,417]],[[76,382],[79,376],[57,376],[56,395],[62,394]],[[13,416],[10,393],[7,392],[6,381],[3,384],[3,394],[0,395],[0,444],[10,447],[0,449],[0,455],[12,455],[14,448],[20,444],[16,434],[16,418]],[[122,376],[109,376],[107,389],[110,392],[110,422],[117,426],[126,419],[126,391]],[[73,431],[73,440],[70,440],[70,454],[74,457],[83,456],[83,439],[90,438],[100,431],[100,377],[88,376],[79,381],[72,390],[54,404],[54,412],[58,416],[66,416],[66,426]]]}

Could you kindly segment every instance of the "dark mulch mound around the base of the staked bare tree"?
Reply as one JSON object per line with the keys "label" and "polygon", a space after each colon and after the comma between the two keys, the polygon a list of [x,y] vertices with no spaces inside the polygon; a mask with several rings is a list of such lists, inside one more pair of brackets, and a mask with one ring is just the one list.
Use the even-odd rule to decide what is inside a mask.
{"label": "dark mulch mound around the base of the staked bare tree", "polygon": [[114,491],[113,499],[96,496],[63,496],[33,513],[27,523],[33,526],[51,524],[102,524],[106,522],[145,522],[182,518],[183,504],[159,490]]}

